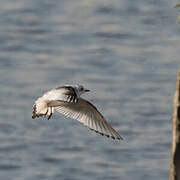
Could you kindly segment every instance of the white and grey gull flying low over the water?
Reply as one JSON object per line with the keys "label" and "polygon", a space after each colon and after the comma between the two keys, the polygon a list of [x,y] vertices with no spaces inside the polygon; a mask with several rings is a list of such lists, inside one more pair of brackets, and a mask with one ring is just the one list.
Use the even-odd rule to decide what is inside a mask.
{"label": "white and grey gull flying low over the water", "polygon": [[63,85],[52,89],[35,101],[32,118],[47,116],[47,120],[49,120],[56,111],[66,117],[78,120],[102,136],[122,140],[123,137],[112,128],[98,109],[89,101],[81,98],[83,93],[89,91],[79,84]]}

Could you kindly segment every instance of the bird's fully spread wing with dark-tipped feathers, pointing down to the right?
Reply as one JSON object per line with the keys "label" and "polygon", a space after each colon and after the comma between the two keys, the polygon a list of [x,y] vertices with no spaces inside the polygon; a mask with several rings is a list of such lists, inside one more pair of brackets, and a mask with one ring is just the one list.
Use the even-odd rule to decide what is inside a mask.
{"label": "bird's fully spread wing with dark-tipped feathers, pointing down to the right", "polygon": [[[51,104],[51,103],[50,103]],[[123,139],[104,119],[102,114],[90,102],[79,98],[77,103],[52,101],[52,106],[66,117],[76,119],[91,130],[113,139]]]}

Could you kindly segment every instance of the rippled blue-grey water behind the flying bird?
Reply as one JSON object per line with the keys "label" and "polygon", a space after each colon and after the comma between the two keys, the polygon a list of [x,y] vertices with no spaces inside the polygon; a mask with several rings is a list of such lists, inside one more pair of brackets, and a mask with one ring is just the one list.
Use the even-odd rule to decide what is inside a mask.
{"label": "rippled blue-grey water behind the flying bird", "polygon": [[[176,2],[0,1],[0,179],[164,180],[180,64]],[[125,138],[55,114],[32,120],[45,91],[79,83]]]}

